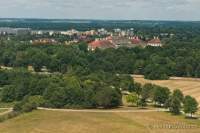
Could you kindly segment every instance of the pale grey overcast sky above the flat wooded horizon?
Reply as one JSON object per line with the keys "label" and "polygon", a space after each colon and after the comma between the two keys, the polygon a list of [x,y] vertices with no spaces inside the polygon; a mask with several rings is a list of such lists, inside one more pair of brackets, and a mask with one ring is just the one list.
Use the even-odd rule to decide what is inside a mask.
{"label": "pale grey overcast sky above the flat wooded horizon", "polygon": [[200,20],[200,0],[0,0],[0,17]]}

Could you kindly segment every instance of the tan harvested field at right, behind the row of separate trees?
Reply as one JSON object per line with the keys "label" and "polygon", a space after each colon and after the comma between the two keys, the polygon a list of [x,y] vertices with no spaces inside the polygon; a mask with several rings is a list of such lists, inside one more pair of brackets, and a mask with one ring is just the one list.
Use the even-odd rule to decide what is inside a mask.
{"label": "tan harvested field at right, behind the row of separate trees", "polygon": [[172,77],[169,80],[146,80],[141,75],[134,75],[134,80],[141,84],[152,83],[171,90],[180,89],[184,95],[191,95],[200,103],[200,79]]}

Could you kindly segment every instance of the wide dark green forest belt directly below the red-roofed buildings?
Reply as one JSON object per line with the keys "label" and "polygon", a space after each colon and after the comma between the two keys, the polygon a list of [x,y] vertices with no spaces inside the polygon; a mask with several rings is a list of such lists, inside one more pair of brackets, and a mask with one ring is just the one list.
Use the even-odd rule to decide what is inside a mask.
{"label": "wide dark green forest belt directly below the red-roofed buildings", "polygon": [[104,71],[121,74],[143,74],[148,79],[169,76],[200,77],[200,44],[171,40],[164,47],[119,48],[94,52],[86,44],[73,46],[31,46],[28,43],[2,42],[0,64],[10,67],[33,66],[41,71],[76,71],[88,74]]}

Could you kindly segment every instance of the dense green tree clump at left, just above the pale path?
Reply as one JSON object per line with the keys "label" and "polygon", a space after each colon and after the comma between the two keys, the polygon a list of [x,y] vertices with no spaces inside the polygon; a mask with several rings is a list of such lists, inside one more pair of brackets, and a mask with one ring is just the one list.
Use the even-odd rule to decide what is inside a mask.
{"label": "dense green tree clump at left, just above the pale path", "polygon": [[121,105],[121,90],[134,88],[131,77],[105,72],[38,75],[19,69],[0,71],[0,81],[1,101],[35,96],[38,106],[52,108],[113,108]]}

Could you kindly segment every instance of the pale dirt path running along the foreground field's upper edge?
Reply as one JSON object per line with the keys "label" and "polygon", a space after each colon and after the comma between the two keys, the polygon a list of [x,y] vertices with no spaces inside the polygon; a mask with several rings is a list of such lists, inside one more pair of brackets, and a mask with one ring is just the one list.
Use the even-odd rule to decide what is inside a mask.
{"label": "pale dirt path running along the foreground field's upper edge", "polygon": [[149,110],[94,110],[94,109],[52,109],[52,108],[38,108],[39,110],[60,111],[60,112],[86,112],[86,113],[145,113],[145,112],[166,112],[168,109],[149,109]]}

